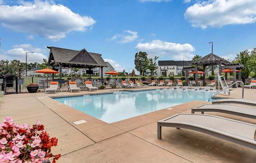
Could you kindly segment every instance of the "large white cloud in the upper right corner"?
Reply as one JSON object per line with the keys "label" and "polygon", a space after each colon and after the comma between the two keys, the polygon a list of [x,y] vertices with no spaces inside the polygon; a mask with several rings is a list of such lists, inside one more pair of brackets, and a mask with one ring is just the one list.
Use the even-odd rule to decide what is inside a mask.
{"label": "large white cloud in the upper right corner", "polygon": [[193,27],[222,27],[256,22],[256,0],[209,0],[186,10],[185,18]]}

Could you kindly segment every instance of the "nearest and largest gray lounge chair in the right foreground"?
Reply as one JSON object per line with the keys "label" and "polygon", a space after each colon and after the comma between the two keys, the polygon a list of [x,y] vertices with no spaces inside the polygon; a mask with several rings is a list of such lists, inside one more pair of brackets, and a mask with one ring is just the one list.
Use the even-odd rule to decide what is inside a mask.
{"label": "nearest and largest gray lounge chair in the right foreground", "polygon": [[256,125],[251,123],[207,114],[175,114],[157,121],[157,139],[162,127],[195,130],[256,150]]}

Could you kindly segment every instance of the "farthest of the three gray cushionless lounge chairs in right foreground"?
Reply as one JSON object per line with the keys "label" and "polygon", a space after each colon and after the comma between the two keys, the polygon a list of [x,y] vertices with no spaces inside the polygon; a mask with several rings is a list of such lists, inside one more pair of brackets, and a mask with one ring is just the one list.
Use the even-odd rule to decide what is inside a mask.
{"label": "farthest of the three gray cushionless lounge chairs in right foreground", "polygon": [[212,104],[221,104],[221,103],[237,103],[242,105],[256,106],[256,100],[248,100],[244,98],[224,98],[212,101]]}

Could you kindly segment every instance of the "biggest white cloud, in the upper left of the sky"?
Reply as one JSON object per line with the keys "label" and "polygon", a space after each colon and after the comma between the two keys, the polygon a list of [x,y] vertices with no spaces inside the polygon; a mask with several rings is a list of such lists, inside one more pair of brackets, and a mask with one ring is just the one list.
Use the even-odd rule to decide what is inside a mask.
{"label": "biggest white cloud, in the upper left of the sky", "polygon": [[90,16],[80,16],[60,4],[41,0],[21,2],[21,5],[0,5],[2,26],[56,41],[71,31],[86,31],[96,22]]}

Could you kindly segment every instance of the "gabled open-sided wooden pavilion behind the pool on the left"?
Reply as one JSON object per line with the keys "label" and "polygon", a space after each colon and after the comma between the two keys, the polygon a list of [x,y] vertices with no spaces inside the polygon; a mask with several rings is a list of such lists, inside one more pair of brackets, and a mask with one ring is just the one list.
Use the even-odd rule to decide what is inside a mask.
{"label": "gabled open-sided wooden pavilion behind the pool on the left", "polygon": [[62,78],[63,67],[84,68],[88,70],[101,67],[101,81],[103,83],[103,67],[107,67],[107,64],[102,59],[101,54],[90,53],[86,49],[76,51],[59,47],[47,48],[50,49],[48,65],[52,66],[55,71],[59,70],[60,79]]}

